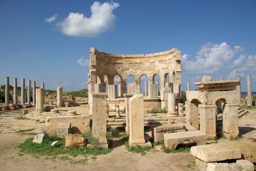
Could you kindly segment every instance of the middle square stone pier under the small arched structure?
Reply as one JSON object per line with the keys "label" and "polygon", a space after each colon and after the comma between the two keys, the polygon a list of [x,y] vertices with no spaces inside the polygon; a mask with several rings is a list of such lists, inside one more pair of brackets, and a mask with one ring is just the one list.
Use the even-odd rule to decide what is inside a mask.
{"label": "middle square stone pier under the small arched structure", "polygon": [[207,137],[216,137],[216,105],[198,105],[200,115],[200,131],[204,132]]}

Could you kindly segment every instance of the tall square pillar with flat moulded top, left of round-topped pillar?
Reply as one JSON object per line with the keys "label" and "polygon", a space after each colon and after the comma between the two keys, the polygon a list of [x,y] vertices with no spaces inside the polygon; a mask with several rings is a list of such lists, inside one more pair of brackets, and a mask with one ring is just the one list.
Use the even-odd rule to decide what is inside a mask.
{"label": "tall square pillar with flat moulded top, left of round-topped pillar", "polygon": [[105,149],[108,148],[106,106],[107,93],[92,93],[92,137],[98,139],[100,147]]}

